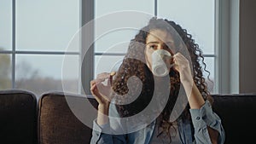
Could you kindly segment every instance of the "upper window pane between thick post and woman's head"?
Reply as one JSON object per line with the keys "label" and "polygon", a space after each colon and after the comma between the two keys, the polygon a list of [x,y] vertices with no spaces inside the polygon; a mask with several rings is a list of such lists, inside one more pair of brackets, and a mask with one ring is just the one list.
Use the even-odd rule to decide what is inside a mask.
{"label": "upper window pane between thick post and woman's head", "polygon": [[[131,10],[134,13],[136,11],[141,14],[111,16],[125,10]],[[95,26],[96,53],[125,53],[131,39],[135,37],[139,29],[146,26],[148,20],[154,15],[154,0],[113,0],[111,3],[105,0],[96,0],[95,15],[98,19],[96,19]],[[107,18],[105,21],[99,22],[102,17]],[[108,31],[104,32],[105,29]],[[114,45],[119,43],[125,43],[126,46],[112,49]]]}

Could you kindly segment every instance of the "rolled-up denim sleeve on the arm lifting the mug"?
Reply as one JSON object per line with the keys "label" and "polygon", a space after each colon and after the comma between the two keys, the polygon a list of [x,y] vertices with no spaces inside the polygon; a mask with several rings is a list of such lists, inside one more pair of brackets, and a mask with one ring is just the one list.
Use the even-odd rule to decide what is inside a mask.
{"label": "rolled-up denim sleeve on the arm lifting the mug", "polygon": [[206,101],[200,109],[190,109],[189,111],[195,129],[195,142],[197,144],[212,143],[207,126],[211,127],[213,130],[217,130],[219,134],[218,143],[224,143],[225,133],[221,119],[215,112],[212,112],[212,106],[209,101]]}

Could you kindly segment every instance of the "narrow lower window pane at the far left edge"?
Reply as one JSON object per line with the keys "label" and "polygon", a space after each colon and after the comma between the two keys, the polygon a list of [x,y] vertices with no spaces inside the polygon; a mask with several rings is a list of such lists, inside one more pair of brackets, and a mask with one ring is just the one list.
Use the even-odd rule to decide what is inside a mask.
{"label": "narrow lower window pane at the far left edge", "polygon": [[0,90],[11,89],[11,55],[0,54]]}

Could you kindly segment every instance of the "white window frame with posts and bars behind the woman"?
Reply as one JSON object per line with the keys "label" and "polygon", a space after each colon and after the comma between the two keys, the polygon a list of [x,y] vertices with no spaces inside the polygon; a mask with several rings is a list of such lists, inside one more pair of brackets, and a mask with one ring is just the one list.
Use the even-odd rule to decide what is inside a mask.
{"label": "white window frame with posts and bars behind the woman", "polygon": [[[45,52],[45,51],[19,51],[16,50],[16,35],[15,35],[15,3],[12,0],[12,49],[1,50],[0,54],[12,55],[12,88],[15,89],[15,56],[17,54],[32,54],[32,55],[80,55],[82,86],[86,94],[90,94],[90,80],[94,78],[94,45],[86,51],[83,45],[86,41],[93,40],[93,32],[86,41],[81,43],[80,52]],[[204,55],[205,57],[215,58],[215,93],[239,93],[239,3],[240,0],[215,0],[215,53],[214,55]],[[154,14],[157,15],[157,0],[154,0]],[[80,21],[81,26],[84,26],[95,17],[95,2],[94,0],[80,1]],[[94,27],[91,27],[94,30]],[[101,55],[101,54],[97,54]]]}

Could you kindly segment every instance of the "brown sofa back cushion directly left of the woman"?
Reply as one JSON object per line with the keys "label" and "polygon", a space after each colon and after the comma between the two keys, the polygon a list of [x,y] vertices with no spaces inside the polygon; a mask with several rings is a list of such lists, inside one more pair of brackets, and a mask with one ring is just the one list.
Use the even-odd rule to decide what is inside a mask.
{"label": "brown sofa back cushion directly left of the woman", "polygon": [[[96,108],[95,99],[61,92],[48,92],[39,98],[38,137],[40,144],[87,144],[90,143],[91,129],[83,119],[96,118],[84,108],[85,99]],[[68,103],[67,103],[68,100]],[[90,104],[89,103],[89,104]],[[77,118],[73,110],[80,112]],[[92,121],[91,121],[92,125]]]}

